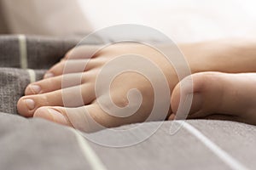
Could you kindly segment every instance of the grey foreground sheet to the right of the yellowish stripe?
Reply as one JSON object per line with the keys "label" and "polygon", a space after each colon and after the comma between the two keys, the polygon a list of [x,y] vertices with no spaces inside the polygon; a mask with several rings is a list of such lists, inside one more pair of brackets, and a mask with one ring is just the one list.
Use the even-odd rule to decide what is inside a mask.
{"label": "grey foreground sheet to the right of the yellowish stripe", "polygon": [[[196,127],[208,139],[237,161],[240,161],[248,169],[254,169],[256,156],[254,145],[256,144],[256,128],[251,125],[210,120],[186,121]],[[147,122],[148,129],[156,122]],[[135,125],[119,127],[125,129]],[[171,135],[171,122],[164,122],[154,135],[143,143],[124,148],[109,148],[98,144],[91,144],[92,148],[101,158],[102,163],[108,169],[232,169],[227,166],[224,159],[213,154],[201,139],[181,128],[177,133]],[[136,135],[143,135],[137,133]],[[108,133],[99,132],[93,135],[101,135],[102,139],[108,139]],[[135,134],[120,138],[128,140]],[[113,161],[114,160],[114,161]],[[128,167],[127,167],[128,166]]]}

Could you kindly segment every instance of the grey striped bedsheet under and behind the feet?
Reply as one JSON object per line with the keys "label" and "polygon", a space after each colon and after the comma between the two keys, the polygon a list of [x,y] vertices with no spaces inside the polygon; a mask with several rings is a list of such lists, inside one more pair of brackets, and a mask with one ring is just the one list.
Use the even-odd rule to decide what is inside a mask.
{"label": "grey striped bedsheet under and behind the feet", "polygon": [[125,143],[148,133],[158,122],[145,123],[144,131],[112,138],[107,130],[83,135],[43,119],[18,116],[16,102],[26,85],[41,79],[45,69],[76,42],[0,37],[0,169],[255,169],[256,128],[239,122],[175,122],[183,127],[173,135],[172,122],[164,122],[143,142],[113,148],[90,139],[101,139],[103,144]]}

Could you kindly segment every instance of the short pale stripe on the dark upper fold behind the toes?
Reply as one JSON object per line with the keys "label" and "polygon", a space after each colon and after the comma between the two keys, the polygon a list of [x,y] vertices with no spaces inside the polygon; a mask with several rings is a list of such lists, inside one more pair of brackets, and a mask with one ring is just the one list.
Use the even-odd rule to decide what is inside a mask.
{"label": "short pale stripe on the dark upper fold behind the toes", "polygon": [[19,35],[19,47],[20,47],[20,68],[27,68],[27,51],[26,51],[26,36]]}

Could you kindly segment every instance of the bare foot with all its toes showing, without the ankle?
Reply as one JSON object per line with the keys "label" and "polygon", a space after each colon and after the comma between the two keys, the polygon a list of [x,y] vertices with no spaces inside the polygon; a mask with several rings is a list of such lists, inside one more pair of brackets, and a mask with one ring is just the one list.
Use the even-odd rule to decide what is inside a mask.
{"label": "bare foot with all its toes showing, without the ankle", "polygon": [[[26,96],[18,102],[20,115],[42,117],[52,122],[79,128],[85,132],[93,132],[103,127],[117,127],[123,124],[144,122],[153,108],[154,89],[148,79],[141,74],[135,71],[126,71],[117,75],[111,86],[110,84],[105,85],[110,88],[113,103],[119,108],[130,107],[132,111],[135,111],[132,115],[124,115],[124,111],[115,111],[108,100],[108,92],[99,92],[96,95],[96,77],[99,76],[105,64],[115,59],[116,56],[123,54],[140,54],[158,65],[160,70],[168,77],[167,88],[170,88],[170,91],[178,82],[172,65],[167,64],[168,61],[160,52],[148,46],[115,44],[94,54],[92,59],[86,59],[92,48],[86,46],[74,48],[67,53],[67,56],[60,63],[47,71],[43,80],[30,84],[26,88]],[[87,65],[84,68],[85,63]],[[132,60],[132,63],[120,63],[120,65],[114,67],[119,68],[135,64],[138,64],[137,59]],[[140,66],[137,65],[137,67]],[[157,81],[159,76],[154,76],[155,71],[152,67],[148,69],[149,72],[151,70],[153,81]],[[112,72],[108,70],[103,74],[105,74],[105,77],[109,77]],[[63,84],[64,80],[67,81]],[[132,105],[132,103],[130,105],[130,99],[127,99],[127,94],[128,98],[135,95],[133,92],[128,93],[133,88],[139,90],[143,97],[143,101],[138,108],[137,105]],[[118,112],[115,113],[118,116],[109,115],[106,110],[102,110],[99,99],[104,100],[106,96],[107,99],[103,102],[105,107],[110,112]],[[137,101],[137,96],[133,97],[133,100],[139,104],[140,101]],[[170,109],[170,98],[166,99],[166,102],[162,102],[162,105],[166,105],[166,103],[168,111]],[[159,120],[161,119],[166,119],[166,117],[159,118]],[[94,121],[99,126],[92,125],[95,124]]]}

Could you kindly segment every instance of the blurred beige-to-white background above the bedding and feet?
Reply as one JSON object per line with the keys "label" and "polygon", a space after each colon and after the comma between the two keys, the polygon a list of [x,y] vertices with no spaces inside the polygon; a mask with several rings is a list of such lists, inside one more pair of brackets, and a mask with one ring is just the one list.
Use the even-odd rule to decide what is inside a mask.
{"label": "blurred beige-to-white background above the bedding and feet", "polygon": [[255,0],[0,0],[0,33],[84,37],[140,24],[176,42],[256,37]]}

